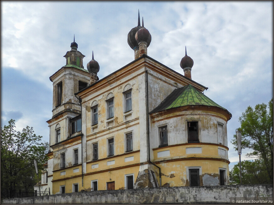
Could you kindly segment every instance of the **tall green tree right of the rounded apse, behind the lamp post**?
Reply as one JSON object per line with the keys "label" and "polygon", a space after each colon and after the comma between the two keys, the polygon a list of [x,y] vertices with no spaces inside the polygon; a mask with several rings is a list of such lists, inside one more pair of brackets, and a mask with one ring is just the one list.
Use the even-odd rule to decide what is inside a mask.
{"label": "tall green tree right of the rounded apse, behind the lamp post", "polygon": [[[239,118],[242,132],[242,149],[248,148],[247,157],[260,160],[261,169],[266,170],[268,183],[273,183],[273,98],[268,106],[265,103],[257,104],[255,108],[248,106]],[[231,143],[237,150],[236,134]],[[242,177],[243,178],[243,177]],[[254,182],[250,182],[254,183]]]}

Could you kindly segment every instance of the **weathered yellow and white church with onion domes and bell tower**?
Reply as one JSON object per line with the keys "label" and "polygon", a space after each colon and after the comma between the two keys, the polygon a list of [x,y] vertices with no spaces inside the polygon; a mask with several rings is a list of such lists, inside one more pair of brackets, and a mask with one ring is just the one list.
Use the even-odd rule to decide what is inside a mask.
{"label": "weathered yellow and white church with onion domes and bell tower", "polygon": [[139,18],[128,34],[134,61],[101,80],[99,63],[93,57],[85,70],[71,43],[50,77],[53,194],[229,184],[231,113],[191,79],[189,56],[183,76],[147,55],[150,42]]}

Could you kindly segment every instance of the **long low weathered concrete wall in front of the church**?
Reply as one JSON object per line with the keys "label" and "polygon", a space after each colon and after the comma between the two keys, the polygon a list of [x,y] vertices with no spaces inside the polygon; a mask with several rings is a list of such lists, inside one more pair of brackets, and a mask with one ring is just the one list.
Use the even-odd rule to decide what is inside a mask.
{"label": "long low weathered concrete wall in front of the church", "polygon": [[2,204],[132,204],[132,203],[229,203],[231,197],[273,197],[273,185],[165,187],[90,191],[41,197],[3,199]]}

